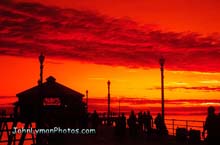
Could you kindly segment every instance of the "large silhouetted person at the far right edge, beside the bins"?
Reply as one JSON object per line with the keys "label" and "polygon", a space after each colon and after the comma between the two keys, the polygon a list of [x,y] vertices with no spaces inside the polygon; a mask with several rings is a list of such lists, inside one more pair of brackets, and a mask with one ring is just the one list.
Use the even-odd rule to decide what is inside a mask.
{"label": "large silhouetted person at the far right edge, beside the bins", "polygon": [[218,134],[219,134],[219,128],[218,128],[218,117],[215,114],[215,108],[210,106],[208,107],[208,116],[206,117],[204,130],[203,130],[203,136],[205,134],[205,131],[207,131],[207,138],[206,141],[209,145],[217,145],[219,144]]}

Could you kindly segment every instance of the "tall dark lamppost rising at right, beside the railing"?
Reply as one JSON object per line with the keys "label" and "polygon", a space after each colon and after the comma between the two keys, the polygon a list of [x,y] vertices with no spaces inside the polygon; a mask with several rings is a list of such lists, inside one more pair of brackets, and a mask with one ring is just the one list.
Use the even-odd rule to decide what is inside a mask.
{"label": "tall dark lamppost rising at right, beside the railing", "polygon": [[160,71],[161,71],[161,105],[162,105],[162,119],[164,121],[164,63],[165,59],[160,58]]}

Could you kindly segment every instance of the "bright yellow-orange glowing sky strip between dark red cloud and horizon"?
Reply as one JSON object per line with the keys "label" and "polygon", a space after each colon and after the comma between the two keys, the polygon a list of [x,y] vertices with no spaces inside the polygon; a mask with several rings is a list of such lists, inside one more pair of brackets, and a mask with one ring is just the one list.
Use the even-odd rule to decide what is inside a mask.
{"label": "bright yellow-orange glowing sky strip between dark red cloud and horizon", "polygon": [[[1,96],[15,94],[37,85],[39,63],[36,58],[4,56],[0,58],[3,77]],[[25,63],[24,63],[25,62]],[[28,68],[28,70],[27,70]],[[89,97],[107,96],[107,80],[111,81],[111,96],[115,98],[160,99],[160,69],[127,68],[98,65],[86,62],[47,58],[44,63],[44,80],[53,75],[57,82]],[[216,99],[220,96],[220,75],[191,71],[166,70],[166,99]]]}

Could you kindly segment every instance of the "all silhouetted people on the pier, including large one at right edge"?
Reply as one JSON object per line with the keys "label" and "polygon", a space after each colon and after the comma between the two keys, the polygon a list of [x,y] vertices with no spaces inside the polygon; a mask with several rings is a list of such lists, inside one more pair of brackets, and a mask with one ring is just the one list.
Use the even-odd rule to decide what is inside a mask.
{"label": "all silhouetted people on the pier, including large one at right edge", "polygon": [[[101,124],[99,115],[94,111],[90,116],[90,122],[92,128],[97,129],[98,125]],[[121,113],[115,122],[115,134],[123,138],[126,134],[126,128],[128,127],[129,135],[135,137],[141,133],[152,135],[156,134],[158,136],[167,135],[168,131],[162,118],[161,114],[158,113],[156,118],[153,119],[150,111],[139,112],[137,117],[132,110],[128,119],[124,113]],[[153,125],[155,124],[155,128]],[[205,141],[209,145],[219,145],[220,144],[220,113],[215,113],[214,107],[208,107],[208,115],[204,124],[203,136]],[[206,135],[207,132],[207,135]]]}

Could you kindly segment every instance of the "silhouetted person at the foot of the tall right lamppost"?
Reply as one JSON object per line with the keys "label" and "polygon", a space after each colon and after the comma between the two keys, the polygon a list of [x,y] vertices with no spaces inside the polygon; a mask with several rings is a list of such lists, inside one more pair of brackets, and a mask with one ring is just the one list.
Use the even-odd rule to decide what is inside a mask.
{"label": "silhouetted person at the foot of the tall right lamppost", "polygon": [[157,114],[154,123],[156,125],[158,135],[164,135],[166,133],[166,126],[160,113]]}

